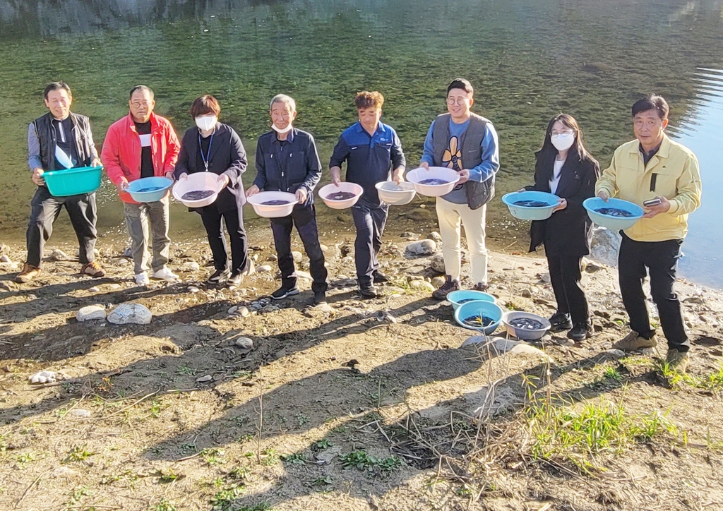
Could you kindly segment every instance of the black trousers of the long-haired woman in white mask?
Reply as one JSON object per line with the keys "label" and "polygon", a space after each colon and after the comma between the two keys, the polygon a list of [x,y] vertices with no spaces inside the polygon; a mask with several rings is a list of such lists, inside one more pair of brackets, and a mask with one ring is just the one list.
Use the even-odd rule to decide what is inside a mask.
{"label": "black trousers of the long-haired woman in white mask", "polygon": [[570,314],[573,325],[589,322],[590,310],[580,280],[581,256],[554,252],[547,254],[549,280],[557,300],[557,311]]}

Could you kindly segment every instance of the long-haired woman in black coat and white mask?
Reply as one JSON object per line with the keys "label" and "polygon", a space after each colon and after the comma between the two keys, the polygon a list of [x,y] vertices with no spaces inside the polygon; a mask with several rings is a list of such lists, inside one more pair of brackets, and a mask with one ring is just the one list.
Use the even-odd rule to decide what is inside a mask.
{"label": "long-haired woman in black coat and white mask", "polygon": [[590,253],[592,221],[583,200],[595,195],[599,163],[583,146],[578,122],[560,113],[547,124],[542,148],[535,153],[535,184],[526,189],[551,192],[559,204],[547,220],[530,228],[530,252],[544,244],[557,312],[549,319],[554,330],[570,330],[579,342],[592,335],[585,290],[580,282],[581,263]]}

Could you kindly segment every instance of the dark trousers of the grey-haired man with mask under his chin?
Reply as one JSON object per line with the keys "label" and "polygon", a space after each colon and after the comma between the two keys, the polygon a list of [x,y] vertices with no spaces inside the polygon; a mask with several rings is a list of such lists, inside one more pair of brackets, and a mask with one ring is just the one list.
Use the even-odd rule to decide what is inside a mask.
{"label": "dark trousers of the grey-haired man with mask under his chin", "polygon": [[295,206],[291,215],[270,218],[273,242],[278,255],[278,269],[281,270],[281,285],[291,289],[296,285],[296,267],[291,255],[291,229],[296,226],[304,251],[309,256],[309,273],[312,274],[312,291],[325,293],[328,288],[328,272],[324,265],[324,252],[319,243],[319,229],[316,223],[316,208],[313,204]]}

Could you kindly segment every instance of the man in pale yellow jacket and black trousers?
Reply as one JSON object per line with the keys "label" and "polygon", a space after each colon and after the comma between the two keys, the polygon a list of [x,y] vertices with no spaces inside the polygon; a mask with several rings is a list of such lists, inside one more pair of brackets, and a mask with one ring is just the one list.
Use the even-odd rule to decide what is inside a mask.
{"label": "man in pale yellow jacket and black trousers", "polygon": [[614,347],[635,351],[656,345],[643,292],[647,269],[651,296],[668,341],[666,361],[683,372],[690,341],[675,294],[675,272],[688,233],[688,214],[701,205],[701,173],[696,155],[667,137],[667,125],[668,104],[663,98],[651,95],[638,100],[633,105],[636,139],[615,150],[595,189],[604,200],[615,195],[646,211],[633,227],[621,231],[617,269],[631,331]]}

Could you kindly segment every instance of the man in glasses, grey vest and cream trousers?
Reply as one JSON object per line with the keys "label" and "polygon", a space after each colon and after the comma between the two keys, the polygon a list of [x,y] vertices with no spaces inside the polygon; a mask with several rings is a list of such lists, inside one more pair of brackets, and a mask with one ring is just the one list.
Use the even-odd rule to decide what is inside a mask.
{"label": "man in glasses, grey vest and cream trousers", "polygon": [[460,222],[471,254],[474,289],[487,289],[487,248],[484,246],[484,214],[495,195],[495,173],[500,169],[499,142],[495,126],[470,111],[474,90],[463,78],[447,87],[447,110],[432,121],[424,140],[421,166],[448,167],[460,180],[452,192],[437,197],[437,220],[442,236],[445,283],[432,293],[443,300],[460,288]]}

